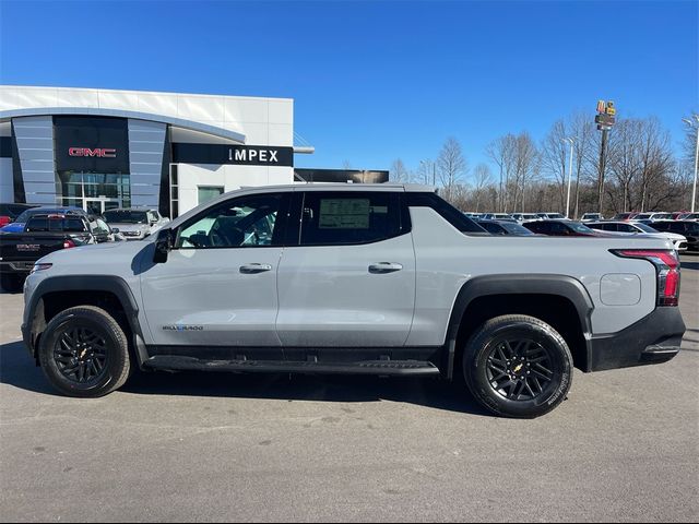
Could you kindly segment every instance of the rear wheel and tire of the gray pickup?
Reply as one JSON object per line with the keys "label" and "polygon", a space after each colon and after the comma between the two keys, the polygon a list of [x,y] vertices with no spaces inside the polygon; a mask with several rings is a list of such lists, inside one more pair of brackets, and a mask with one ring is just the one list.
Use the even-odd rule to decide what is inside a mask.
{"label": "rear wheel and tire of the gray pickup", "polygon": [[546,322],[508,314],[485,322],[463,352],[463,374],[473,396],[490,412],[535,418],[560,404],[572,382],[568,344]]}

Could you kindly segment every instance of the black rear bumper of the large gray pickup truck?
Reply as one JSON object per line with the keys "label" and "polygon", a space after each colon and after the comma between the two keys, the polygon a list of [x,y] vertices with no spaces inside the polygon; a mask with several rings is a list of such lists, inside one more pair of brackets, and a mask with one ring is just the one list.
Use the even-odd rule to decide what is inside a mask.
{"label": "black rear bumper of the large gray pickup truck", "polygon": [[656,308],[611,335],[590,341],[589,371],[666,362],[679,353],[685,323],[677,307]]}

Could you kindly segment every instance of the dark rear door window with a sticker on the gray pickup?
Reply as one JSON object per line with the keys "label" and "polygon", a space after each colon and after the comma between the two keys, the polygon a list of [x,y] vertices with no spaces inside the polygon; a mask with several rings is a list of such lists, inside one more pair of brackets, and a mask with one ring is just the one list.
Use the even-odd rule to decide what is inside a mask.
{"label": "dark rear door window with a sticker on the gray pickup", "polygon": [[398,193],[308,191],[301,212],[301,246],[342,246],[402,234]]}

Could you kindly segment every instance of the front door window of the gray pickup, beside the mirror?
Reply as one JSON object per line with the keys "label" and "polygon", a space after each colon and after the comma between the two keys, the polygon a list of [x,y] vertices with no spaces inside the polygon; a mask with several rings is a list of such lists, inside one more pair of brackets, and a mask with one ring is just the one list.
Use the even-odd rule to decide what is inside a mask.
{"label": "front door window of the gray pickup, beside the mirror", "polygon": [[257,194],[206,210],[178,228],[175,249],[280,246],[282,200],[281,194]]}

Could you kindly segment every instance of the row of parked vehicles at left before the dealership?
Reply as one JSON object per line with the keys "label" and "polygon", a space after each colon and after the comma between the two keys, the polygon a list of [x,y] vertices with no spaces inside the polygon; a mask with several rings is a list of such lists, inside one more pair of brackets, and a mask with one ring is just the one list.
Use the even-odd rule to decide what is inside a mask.
{"label": "row of parked vehicles at left before the dealership", "polygon": [[140,240],[169,222],[157,210],[133,207],[93,215],[80,207],[0,204],[0,285],[17,290],[37,260],[60,249]]}

